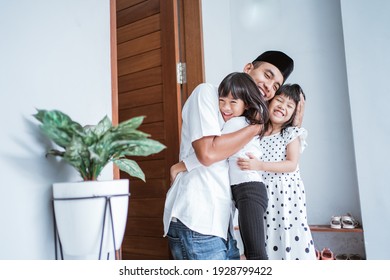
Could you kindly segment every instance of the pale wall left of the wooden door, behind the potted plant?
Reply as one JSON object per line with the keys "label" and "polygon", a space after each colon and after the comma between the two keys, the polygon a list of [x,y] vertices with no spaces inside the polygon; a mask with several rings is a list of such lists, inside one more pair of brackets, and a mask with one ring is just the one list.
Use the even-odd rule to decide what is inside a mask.
{"label": "pale wall left of the wooden door, behind the potted plant", "polygon": [[[109,0],[0,0],[0,259],[53,259],[51,184],[80,180],[46,159],[32,118],[111,117]],[[112,178],[112,169],[102,179]]]}

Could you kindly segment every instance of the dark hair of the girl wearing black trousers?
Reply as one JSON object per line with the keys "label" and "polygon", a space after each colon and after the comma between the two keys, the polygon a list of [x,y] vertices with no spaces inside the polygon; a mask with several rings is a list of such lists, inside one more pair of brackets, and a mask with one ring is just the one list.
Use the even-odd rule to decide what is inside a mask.
{"label": "dark hair of the girl wearing black trousers", "polygon": [[[218,87],[218,96],[227,97],[229,93],[234,99],[241,99],[246,109],[243,116],[249,124],[266,124],[269,119],[267,102],[264,100],[252,77],[244,72],[233,72],[227,75]],[[259,136],[265,133],[262,127]]]}

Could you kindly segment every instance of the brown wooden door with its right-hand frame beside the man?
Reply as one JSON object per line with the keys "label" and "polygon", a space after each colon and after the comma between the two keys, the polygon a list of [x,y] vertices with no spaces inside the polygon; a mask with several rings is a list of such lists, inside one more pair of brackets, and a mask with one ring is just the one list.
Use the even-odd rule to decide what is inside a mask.
{"label": "brown wooden door with its right-hand frame beside the man", "polygon": [[[129,178],[123,259],[170,258],[162,216],[169,167],[179,155],[181,107],[194,85],[203,82],[200,10],[200,0],[116,0],[119,121],[146,116],[140,130],[167,146],[157,155],[133,158],[145,172],[146,183]],[[179,29],[179,23],[187,24],[187,30]],[[188,53],[189,30],[195,38],[188,49],[192,62],[187,64],[187,84],[181,85],[176,65]],[[124,173],[120,177],[128,178]]]}

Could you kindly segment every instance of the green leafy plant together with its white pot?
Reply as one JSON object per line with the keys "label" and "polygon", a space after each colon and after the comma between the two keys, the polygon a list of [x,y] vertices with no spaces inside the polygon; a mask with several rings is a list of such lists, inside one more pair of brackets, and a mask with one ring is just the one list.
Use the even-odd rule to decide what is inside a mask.
{"label": "green leafy plant together with its white pot", "polygon": [[[38,109],[34,117],[43,133],[58,146],[47,155],[62,158],[82,178],[80,182],[53,184],[55,235],[61,253],[72,258],[98,255],[100,259],[103,254],[117,251],[126,227],[129,182],[97,179],[112,162],[145,181],[139,165],[127,157],[159,153],[165,146],[138,130],[143,116],[116,126],[107,116],[97,125],[82,126],[58,110]],[[57,257],[57,244],[55,247]]]}

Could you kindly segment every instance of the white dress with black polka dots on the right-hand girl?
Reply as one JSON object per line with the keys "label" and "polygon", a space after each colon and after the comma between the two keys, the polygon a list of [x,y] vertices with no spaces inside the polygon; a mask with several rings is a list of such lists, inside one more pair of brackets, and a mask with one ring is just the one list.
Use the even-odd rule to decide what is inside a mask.
{"label": "white dress with black polka dots on the right-hand girl", "polygon": [[[282,161],[287,145],[300,138],[301,153],[306,147],[307,131],[289,127],[280,133],[261,140],[262,160]],[[265,213],[266,249],[270,260],[315,260],[313,238],[307,223],[305,188],[299,167],[291,173],[263,172],[268,191],[268,208]]]}

